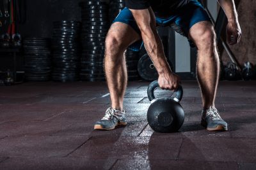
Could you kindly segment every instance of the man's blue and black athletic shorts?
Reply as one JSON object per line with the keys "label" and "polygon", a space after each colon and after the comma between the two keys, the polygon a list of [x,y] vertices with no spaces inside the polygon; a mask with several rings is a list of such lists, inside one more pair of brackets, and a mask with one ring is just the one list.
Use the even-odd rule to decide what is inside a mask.
{"label": "man's blue and black athletic shorts", "polygon": [[[204,7],[198,3],[198,1],[190,1],[185,6],[175,10],[173,15],[166,18],[156,17],[156,24],[160,26],[171,26],[176,32],[179,32],[182,36],[186,36],[188,38],[189,29],[196,24],[197,22],[201,21],[209,21],[207,12],[204,10]],[[115,18],[114,22],[122,22],[125,24],[130,25],[138,34],[141,34],[136,21],[134,20],[131,11],[128,8],[124,8],[117,17]],[[195,45],[193,42],[188,38],[190,46],[194,47]],[[139,51],[141,46],[143,45],[142,39],[136,41],[129,49],[133,51]]]}

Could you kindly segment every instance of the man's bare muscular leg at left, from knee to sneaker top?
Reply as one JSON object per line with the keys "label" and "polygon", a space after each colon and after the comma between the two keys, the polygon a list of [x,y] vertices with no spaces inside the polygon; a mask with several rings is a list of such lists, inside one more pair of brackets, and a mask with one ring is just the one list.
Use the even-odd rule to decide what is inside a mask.
{"label": "man's bare muscular leg at left, from knee to sneaker top", "polygon": [[126,48],[140,39],[131,26],[115,22],[109,29],[106,38],[104,68],[111,97],[111,106],[123,110],[123,99],[127,85],[127,68],[124,52]]}

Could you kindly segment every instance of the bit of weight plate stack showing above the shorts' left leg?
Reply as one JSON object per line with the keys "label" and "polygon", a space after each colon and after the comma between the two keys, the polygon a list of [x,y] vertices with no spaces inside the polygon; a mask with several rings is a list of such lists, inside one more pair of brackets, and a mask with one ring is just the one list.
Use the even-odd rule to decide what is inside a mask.
{"label": "bit of weight plate stack showing above the shorts' left leg", "polygon": [[112,0],[109,2],[109,18],[112,22],[118,13],[122,11],[125,7],[125,0]]}

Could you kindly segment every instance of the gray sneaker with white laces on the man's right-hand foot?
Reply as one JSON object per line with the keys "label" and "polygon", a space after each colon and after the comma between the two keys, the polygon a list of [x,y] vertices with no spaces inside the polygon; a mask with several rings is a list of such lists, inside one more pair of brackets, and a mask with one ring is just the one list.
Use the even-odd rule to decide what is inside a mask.
{"label": "gray sneaker with white laces on the man's right-hand foot", "polygon": [[227,131],[228,124],[219,115],[216,108],[211,106],[209,109],[202,111],[201,125],[208,131]]}

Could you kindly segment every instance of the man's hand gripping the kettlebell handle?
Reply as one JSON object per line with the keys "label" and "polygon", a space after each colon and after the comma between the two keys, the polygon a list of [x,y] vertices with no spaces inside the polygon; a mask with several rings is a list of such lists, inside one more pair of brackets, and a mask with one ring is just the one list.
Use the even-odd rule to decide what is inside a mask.
{"label": "man's hand gripping the kettlebell handle", "polygon": [[180,77],[174,73],[159,74],[158,83],[161,89],[176,91],[180,84]]}

